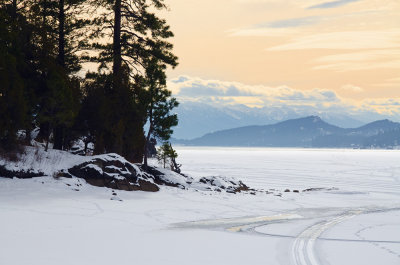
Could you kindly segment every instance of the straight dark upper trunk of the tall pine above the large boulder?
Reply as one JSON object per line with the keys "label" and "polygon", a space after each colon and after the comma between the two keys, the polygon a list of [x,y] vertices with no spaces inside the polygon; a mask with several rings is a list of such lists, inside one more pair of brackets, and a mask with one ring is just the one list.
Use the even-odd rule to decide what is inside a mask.
{"label": "straight dark upper trunk of the tall pine above the large boulder", "polygon": [[121,82],[121,0],[115,0],[114,4],[114,36],[113,36],[113,82],[114,89]]}

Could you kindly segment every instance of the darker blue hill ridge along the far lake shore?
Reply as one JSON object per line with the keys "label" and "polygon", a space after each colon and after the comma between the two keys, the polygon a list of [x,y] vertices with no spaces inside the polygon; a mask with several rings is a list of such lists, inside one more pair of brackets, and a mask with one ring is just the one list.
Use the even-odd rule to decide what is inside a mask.
{"label": "darker blue hill ridge along the far lake shore", "polygon": [[246,126],[208,133],[193,140],[174,140],[192,146],[393,148],[400,145],[400,123],[375,121],[345,129],[318,116],[272,125]]}

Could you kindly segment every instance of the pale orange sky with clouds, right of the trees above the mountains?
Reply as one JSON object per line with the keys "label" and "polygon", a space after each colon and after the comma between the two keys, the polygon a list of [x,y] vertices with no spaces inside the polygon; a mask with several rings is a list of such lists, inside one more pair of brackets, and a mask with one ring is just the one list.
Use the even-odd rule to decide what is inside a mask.
{"label": "pale orange sky with clouds, right of the trees above the mountains", "polygon": [[166,0],[181,100],[400,114],[399,0]]}

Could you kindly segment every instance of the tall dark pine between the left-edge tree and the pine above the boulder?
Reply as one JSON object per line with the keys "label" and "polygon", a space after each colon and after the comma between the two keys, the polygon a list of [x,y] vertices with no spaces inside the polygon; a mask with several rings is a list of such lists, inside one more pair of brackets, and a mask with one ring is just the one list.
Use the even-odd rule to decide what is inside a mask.
{"label": "tall dark pine between the left-edge tree and the pine above the boulder", "polygon": [[51,133],[55,149],[64,149],[68,145],[67,131],[79,111],[79,80],[73,74],[81,69],[76,52],[86,47],[83,28],[88,25],[88,20],[79,18],[84,2],[28,1],[27,12],[38,44],[34,56],[39,74],[36,122],[46,140],[46,150]]}

